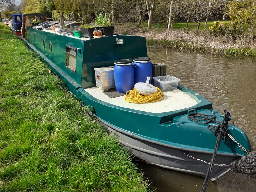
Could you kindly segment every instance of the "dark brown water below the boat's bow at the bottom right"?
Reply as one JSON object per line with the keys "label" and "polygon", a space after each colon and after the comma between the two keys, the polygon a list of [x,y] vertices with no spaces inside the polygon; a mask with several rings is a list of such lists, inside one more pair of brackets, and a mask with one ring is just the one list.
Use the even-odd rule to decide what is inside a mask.
{"label": "dark brown water below the boat's bow at the bottom right", "polygon": [[[136,163],[136,162],[135,162]],[[156,192],[199,192],[204,182],[203,177],[169,171],[139,162],[137,167],[149,180],[150,189]],[[256,180],[247,175],[228,172],[221,178],[210,181],[207,192],[255,192]]]}

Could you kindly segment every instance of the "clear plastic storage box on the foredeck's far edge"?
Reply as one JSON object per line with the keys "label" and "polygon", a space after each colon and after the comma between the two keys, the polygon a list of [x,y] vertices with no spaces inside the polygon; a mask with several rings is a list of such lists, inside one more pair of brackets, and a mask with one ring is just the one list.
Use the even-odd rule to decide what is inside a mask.
{"label": "clear plastic storage box on the foredeck's far edge", "polygon": [[154,86],[160,88],[163,92],[176,89],[180,81],[180,79],[170,75],[153,77],[153,79]]}

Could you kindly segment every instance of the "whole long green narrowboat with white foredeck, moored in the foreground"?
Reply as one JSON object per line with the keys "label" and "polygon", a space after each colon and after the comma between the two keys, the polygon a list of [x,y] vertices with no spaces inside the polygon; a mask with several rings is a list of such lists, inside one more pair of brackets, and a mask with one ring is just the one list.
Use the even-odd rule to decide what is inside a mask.
{"label": "whole long green narrowboat with white foredeck, moored in the foreground", "polygon": [[[84,105],[89,105],[92,114],[134,156],[163,168],[205,176],[216,144],[212,127],[222,123],[228,126],[227,134],[251,151],[250,142],[241,129],[228,123],[227,117],[223,120],[208,100],[186,87],[178,85],[168,90],[170,84],[161,85],[164,99],[140,104],[125,101],[125,94],[110,85],[102,88],[102,84],[108,84],[103,72],[110,75],[108,79],[112,82],[118,78],[108,72],[113,72],[114,63],[122,65],[117,60],[128,66],[127,60],[148,58],[144,37],[103,34],[99,38],[78,38],[73,36],[74,30],[77,28],[53,32],[49,25],[42,23],[27,27],[22,35],[27,46],[65,80],[68,89]],[[96,71],[101,74],[95,75]],[[130,78],[134,77],[124,79]],[[97,80],[100,86],[96,86]],[[199,117],[200,114],[204,114],[203,117]],[[220,143],[212,178],[227,172],[230,162],[246,155],[246,151],[227,136]]]}

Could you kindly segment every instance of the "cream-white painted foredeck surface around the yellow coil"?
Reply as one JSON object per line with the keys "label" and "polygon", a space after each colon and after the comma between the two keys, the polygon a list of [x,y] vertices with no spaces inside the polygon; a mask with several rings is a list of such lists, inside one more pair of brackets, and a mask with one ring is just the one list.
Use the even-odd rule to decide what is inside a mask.
{"label": "cream-white painted foredeck surface around the yellow coil", "polygon": [[142,103],[134,104],[128,103],[124,100],[125,95],[116,98],[109,98],[107,95],[102,93],[102,90],[98,87],[92,87],[84,89],[90,95],[96,99],[102,100],[104,102],[110,103],[112,105],[129,108],[133,110],[145,111],[150,113],[163,113],[168,111],[176,111],[188,107],[192,107],[197,104],[197,102],[192,99],[188,94],[175,89],[173,91],[164,92],[164,99],[154,103]]}

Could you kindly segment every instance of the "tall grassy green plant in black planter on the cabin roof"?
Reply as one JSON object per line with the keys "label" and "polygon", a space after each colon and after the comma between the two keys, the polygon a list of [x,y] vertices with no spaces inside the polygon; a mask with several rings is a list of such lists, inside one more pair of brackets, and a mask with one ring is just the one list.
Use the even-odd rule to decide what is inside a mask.
{"label": "tall grassy green plant in black planter on the cabin roof", "polygon": [[95,22],[97,23],[98,26],[100,26],[100,29],[102,29],[102,34],[104,34],[105,36],[113,36],[114,35],[114,26],[112,26],[112,18],[111,14],[112,12],[107,15],[106,13],[103,14],[103,11],[100,12],[100,14],[96,13],[96,18],[95,18]]}

